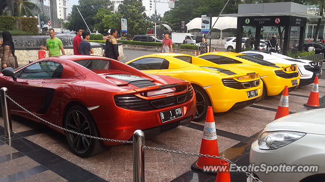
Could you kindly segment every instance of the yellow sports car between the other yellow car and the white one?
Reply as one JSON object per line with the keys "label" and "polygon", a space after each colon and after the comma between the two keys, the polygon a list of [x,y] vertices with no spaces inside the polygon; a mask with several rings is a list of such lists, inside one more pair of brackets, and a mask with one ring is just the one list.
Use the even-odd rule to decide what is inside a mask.
{"label": "yellow sports car between the other yellow car and the white one", "polygon": [[258,72],[264,82],[263,90],[266,90],[263,92],[262,99],[265,96],[281,94],[285,85],[289,87],[290,91],[300,83],[300,75],[295,64],[274,64],[255,57],[230,52],[206,53],[198,57],[212,62],[213,66],[221,65],[229,69],[242,68]]}

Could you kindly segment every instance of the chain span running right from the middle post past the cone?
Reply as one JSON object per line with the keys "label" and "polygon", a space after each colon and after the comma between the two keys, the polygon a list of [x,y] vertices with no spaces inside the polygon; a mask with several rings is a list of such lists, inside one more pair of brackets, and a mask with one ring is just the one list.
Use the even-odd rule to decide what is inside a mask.
{"label": "chain span running right from the middle post past the cone", "polygon": [[257,182],[262,182],[259,180],[257,177],[254,177],[251,173],[246,172],[243,168],[237,166],[234,162],[230,161],[229,159],[226,159],[222,156],[215,156],[215,155],[208,155],[208,154],[197,154],[197,153],[190,153],[190,152],[183,152],[183,151],[177,151],[177,150],[169,150],[169,149],[159,149],[156,147],[148,147],[148,146],[143,146],[144,149],[150,149],[150,150],[155,150],[155,151],[161,151],[161,152],[170,152],[170,153],[175,153],[175,154],[183,154],[183,155],[190,155],[190,156],[198,156],[198,157],[211,157],[213,159],[221,159],[223,161],[228,162],[231,165],[234,165],[238,170],[244,172],[248,177],[253,178]]}

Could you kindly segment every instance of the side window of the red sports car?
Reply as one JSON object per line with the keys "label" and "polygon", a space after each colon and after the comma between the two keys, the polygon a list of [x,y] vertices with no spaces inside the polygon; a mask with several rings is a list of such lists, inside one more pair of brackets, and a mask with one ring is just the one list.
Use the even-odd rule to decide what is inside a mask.
{"label": "side window of the red sports car", "polygon": [[63,66],[60,63],[53,61],[41,61],[27,66],[20,72],[19,75],[16,75],[18,78],[23,79],[60,78],[62,72]]}

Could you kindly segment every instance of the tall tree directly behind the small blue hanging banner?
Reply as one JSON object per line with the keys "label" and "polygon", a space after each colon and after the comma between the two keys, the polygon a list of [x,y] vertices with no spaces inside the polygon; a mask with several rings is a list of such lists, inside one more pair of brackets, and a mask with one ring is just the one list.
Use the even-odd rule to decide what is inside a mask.
{"label": "tall tree directly behind the small blue hanging banner", "polygon": [[[128,34],[144,34],[147,28],[152,26],[152,23],[147,20],[144,11],[145,7],[142,6],[141,0],[124,0],[123,4],[118,6],[118,13],[127,19]],[[120,20],[115,21],[120,22]],[[120,27],[120,23],[118,27]]]}

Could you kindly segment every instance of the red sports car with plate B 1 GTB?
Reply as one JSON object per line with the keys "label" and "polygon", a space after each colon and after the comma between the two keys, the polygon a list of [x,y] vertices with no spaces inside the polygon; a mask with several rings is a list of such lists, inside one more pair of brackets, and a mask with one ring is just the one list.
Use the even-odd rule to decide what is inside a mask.
{"label": "red sports car with plate B 1 GTB", "polygon": [[[105,57],[44,58],[15,73],[3,70],[0,85],[8,88],[8,96],[41,118],[108,139],[130,140],[137,129],[144,130],[148,138],[190,122],[196,113],[189,82],[149,75]],[[9,103],[11,114],[42,122]],[[50,127],[66,134],[72,152],[80,157],[101,151],[99,140]]]}

